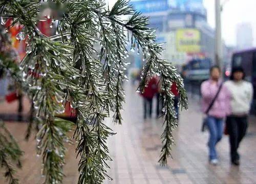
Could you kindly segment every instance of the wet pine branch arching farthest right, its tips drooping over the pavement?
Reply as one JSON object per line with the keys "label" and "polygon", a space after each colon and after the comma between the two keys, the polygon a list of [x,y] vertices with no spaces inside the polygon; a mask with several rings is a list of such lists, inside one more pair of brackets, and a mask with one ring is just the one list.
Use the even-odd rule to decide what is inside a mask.
{"label": "wet pine branch arching farthest right, its tips drooping over the pavement", "polygon": [[[115,6],[117,5],[118,3]],[[120,9],[125,7],[118,8]],[[147,59],[147,62],[142,70],[142,80],[137,91],[139,93],[143,93],[144,86],[147,84],[147,81],[151,79],[151,77],[154,75],[161,76],[162,83],[164,84],[162,93],[165,99],[165,129],[161,136],[163,148],[159,162],[161,165],[165,165],[167,162],[166,159],[170,155],[170,146],[174,143],[172,130],[177,126],[177,118],[175,118],[175,111],[173,110],[174,96],[170,95],[169,90],[172,82],[176,82],[180,93],[179,104],[182,107],[187,108],[187,97],[183,86],[183,80],[177,73],[175,67],[173,67],[165,60],[160,59],[160,55],[163,49],[161,48],[160,44],[155,43],[156,36],[154,30],[145,27],[147,25],[147,17],[142,16],[140,13],[134,13],[132,17],[126,22],[126,24],[120,22],[117,17],[111,14],[106,15],[106,17],[131,31],[132,48],[135,48],[137,45],[138,48],[142,49],[144,58]],[[156,70],[157,68],[158,70]]]}

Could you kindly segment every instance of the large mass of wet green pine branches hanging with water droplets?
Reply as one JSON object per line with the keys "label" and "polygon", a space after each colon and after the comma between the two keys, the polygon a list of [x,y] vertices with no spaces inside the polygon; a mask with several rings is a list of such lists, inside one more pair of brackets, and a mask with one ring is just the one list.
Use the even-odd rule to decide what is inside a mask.
{"label": "large mass of wet green pine branches hanging with water droplets", "polygon": [[[77,114],[73,139],[77,142],[76,152],[80,158],[78,183],[102,183],[105,178],[111,179],[106,171],[112,160],[106,140],[114,133],[104,124],[104,118],[112,111],[114,122],[121,124],[122,121],[122,82],[127,78],[124,71],[129,64],[125,61],[128,43],[146,60],[138,92],[143,93],[151,77],[161,76],[165,129],[159,162],[165,165],[174,144],[172,131],[177,126],[174,96],[170,93],[173,82],[180,92],[179,104],[186,108],[187,102],[181,77],[175,67],[160,58],[161,44],[155,43],[154,30],[146,28],[148,18],[136,13],[124,0],[118,0],[111,10],[105,9],[103,1],[51,2],[56,7],[58,4],[65,6],[65,12],[58,20],[54,20],[53,14],[47,15],[57,22],[56,35],[47,37],[36,28],[41,3],[0,1],[1,16],[4,19],[12,17],[14,23],[24,25],[21,34],[28,35],[27,55],[22,62],[0,57],[0,65],[17,80],[32,101],[35,118],[31,123],[34,121],[39,127],[37,152],[42,155],[45,183],[62,182],[64,176],[64,143],[70,142],[68,132],[73,126],[56,115],[64,111],[67,102]],[[123,20],[123,15],[129,19]],[[31,127],[29,124],[26,137]],[[4,151],[1,154],[8,154]],[[11,151],[17,155],[14,149]]]}

